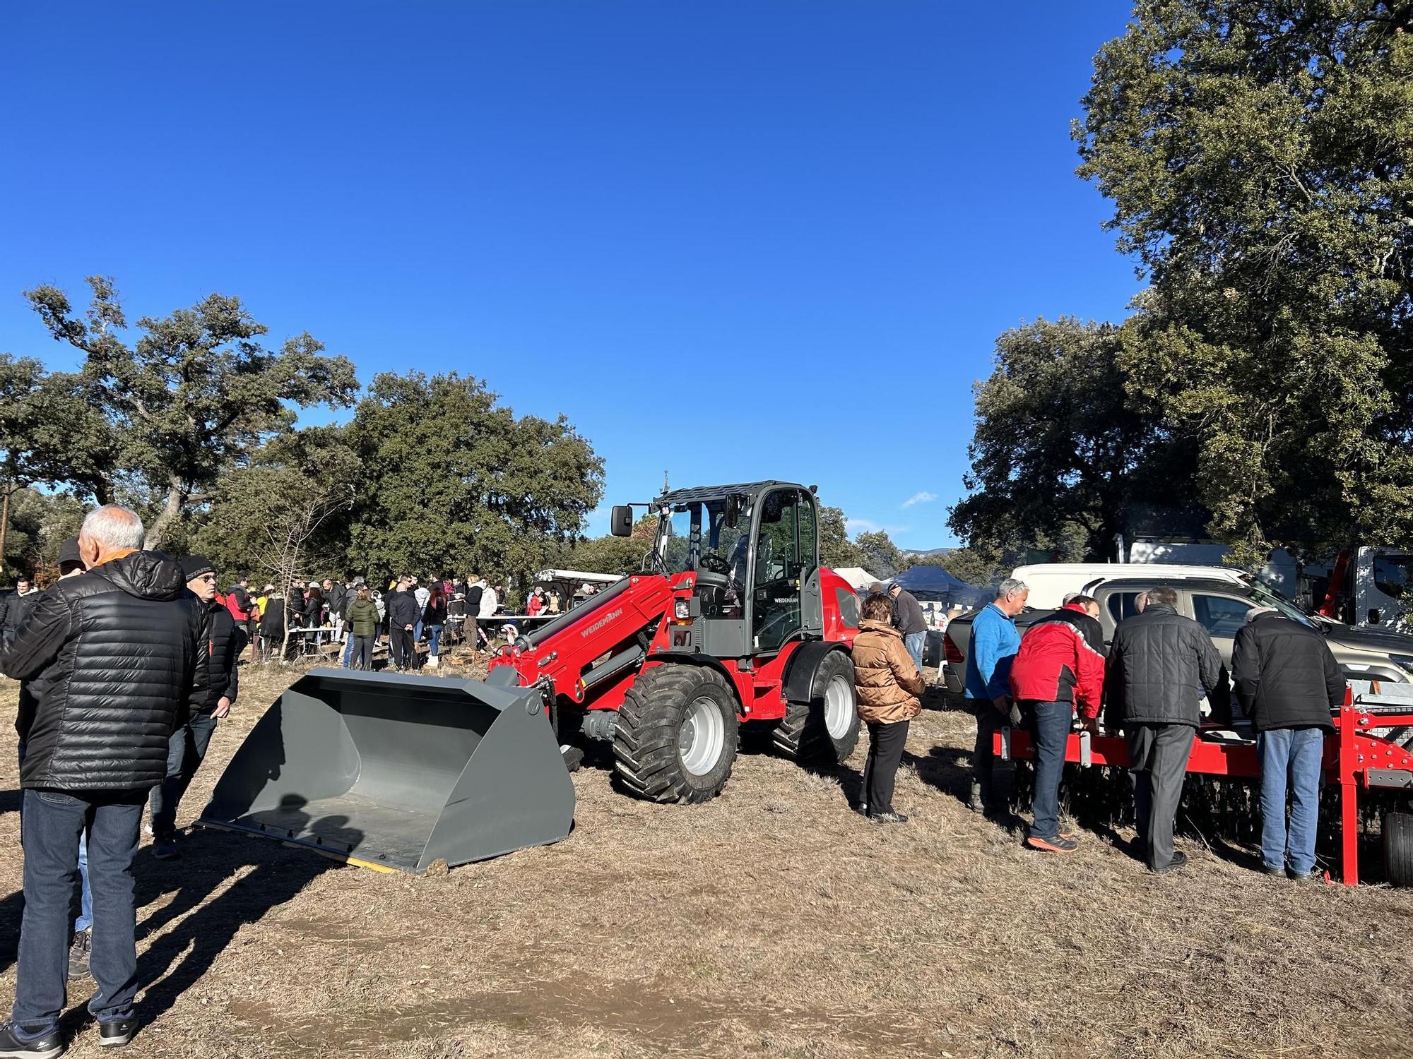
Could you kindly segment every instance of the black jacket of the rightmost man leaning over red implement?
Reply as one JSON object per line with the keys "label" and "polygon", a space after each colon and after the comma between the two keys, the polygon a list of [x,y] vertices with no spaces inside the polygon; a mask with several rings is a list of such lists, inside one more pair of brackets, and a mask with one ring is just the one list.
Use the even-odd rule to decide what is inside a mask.
{"label": "black jacket of the rightmost man leaning over red implement", "polygon": [[1232,683],[1256,731],[1334,730],[1344,703],[1344,671],[1324,637],[1280,614],[1262,614],[1236,634]]}

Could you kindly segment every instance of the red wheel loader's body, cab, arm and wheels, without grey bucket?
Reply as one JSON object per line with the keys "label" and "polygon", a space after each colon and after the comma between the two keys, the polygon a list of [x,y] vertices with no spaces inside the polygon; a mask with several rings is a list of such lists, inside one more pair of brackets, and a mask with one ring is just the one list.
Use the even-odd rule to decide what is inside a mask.
{"label": "red wheel loader's body, cab, arm and wheels, without grey bucket", "polygon": [[[800,761],[852,754],[859,602],[820,565],[814,489],[681,489],[646,507],[643,572],[500,648],[492,679],[537,689],[561,743],[612,740],[622,785],[657,802],[719,794],[742,724]],[[612,532],[632,527],[633,505],[615,507]]]}

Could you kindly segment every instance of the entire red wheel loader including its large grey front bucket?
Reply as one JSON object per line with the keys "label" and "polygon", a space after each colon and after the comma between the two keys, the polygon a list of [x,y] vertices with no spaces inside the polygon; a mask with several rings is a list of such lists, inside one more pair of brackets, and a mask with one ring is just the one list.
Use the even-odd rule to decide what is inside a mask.
{"label": "entire red wheel loader including its large grey front bucket", "polygon": [[[309,671],[201,823],[424,871],[565,837],[575,733],[612,740],[622,785],[658,802],[715,796],[742,724],[796,760],[853,753],[859,602],[820,566],[814,490],[756,481],[649,507],[643,572],[502,648],[485,683]],[[632,505],[613,508],[615,534],[632,522]]]}

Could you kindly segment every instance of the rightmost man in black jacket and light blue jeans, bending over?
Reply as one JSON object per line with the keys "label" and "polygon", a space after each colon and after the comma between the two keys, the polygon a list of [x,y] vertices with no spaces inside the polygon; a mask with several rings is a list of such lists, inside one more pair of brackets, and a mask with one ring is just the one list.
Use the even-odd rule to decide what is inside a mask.
{"label": "rightmost man in black jacket and light blue jeans, bending over", "polygon": [[1344,703],[1344,672],[1317,630],[1262,607],[1236,634],[1232,683],[1256,729],[1266,873],[1314,881],[1320,767],[1325,733],[1334,731],[1331,710]]}

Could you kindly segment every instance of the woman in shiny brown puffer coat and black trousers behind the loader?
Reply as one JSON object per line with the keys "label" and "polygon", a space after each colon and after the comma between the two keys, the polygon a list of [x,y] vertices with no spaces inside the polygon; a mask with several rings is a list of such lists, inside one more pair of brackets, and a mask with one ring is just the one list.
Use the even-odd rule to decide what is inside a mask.
{"label": "woman in shiny brown puffer coat and black trousers behind the loader", "polygon": [[907,723],[923,710],[923,675],[893,628],[893,600],[887,596],[863,602],[863,628],[853,638],[853,683],[859,720],[869,726],[862,810],[875,823],[906,823],[903,813],[893,812],[893,779]]}

